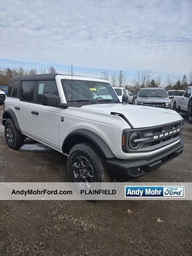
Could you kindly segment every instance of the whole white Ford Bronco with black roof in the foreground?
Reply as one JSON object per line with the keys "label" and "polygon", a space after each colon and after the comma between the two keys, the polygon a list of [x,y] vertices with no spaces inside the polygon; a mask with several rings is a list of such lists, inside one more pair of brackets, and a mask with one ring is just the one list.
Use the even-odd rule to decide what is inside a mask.
{"label": "whole white Ford Bronco with black roof in the foreground", "polygon": [[[100,88],[105,92],[98,97]],[[106,94],[106,95],[103,95]],[[73,182],[126,181],[183,151],[183,119],[174,110],[122,102],[103,79],[60,74],[10,80],[2,119],[8,146],[26,137],[68,156]]]}

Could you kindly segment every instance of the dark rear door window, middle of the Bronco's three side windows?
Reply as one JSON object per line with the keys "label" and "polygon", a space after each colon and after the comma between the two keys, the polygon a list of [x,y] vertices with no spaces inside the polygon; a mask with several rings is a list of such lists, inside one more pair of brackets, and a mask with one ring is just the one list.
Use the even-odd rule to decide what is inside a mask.
{"label": "dark rear door window, middle of the Bronco's three side windows", "polygon": [[21,85],[20,99],[24,101],[33,101],[34,81],[23,81]]}

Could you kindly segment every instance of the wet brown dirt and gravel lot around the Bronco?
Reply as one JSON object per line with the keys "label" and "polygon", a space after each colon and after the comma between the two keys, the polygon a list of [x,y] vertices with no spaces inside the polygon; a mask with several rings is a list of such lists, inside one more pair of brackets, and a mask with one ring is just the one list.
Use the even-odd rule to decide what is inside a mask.
{"label": "wet brown dirt and gravel lot around the Bronco", "polygon": [[[187,119],[183,138],[181,156],[137,181],[192,182]],[[61,181],[66,156],[33,141],[11,150],[0,119],[0,182]],[[0,255],[192,255],[192,202],[0,201]]]}

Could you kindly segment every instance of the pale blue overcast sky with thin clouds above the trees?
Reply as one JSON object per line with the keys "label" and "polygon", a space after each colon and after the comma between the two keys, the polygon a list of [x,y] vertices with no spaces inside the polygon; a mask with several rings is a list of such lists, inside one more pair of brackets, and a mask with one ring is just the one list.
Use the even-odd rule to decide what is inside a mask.
{"label": "pale blue overcast sky with thin clouds above the trees", "polygon": [[192,0],[1,0],[0,66],[192,69]]}

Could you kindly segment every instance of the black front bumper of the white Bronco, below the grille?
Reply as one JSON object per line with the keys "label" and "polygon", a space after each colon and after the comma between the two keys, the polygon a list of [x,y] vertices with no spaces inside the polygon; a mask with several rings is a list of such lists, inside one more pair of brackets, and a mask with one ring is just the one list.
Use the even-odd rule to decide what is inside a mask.
{"label": "black front bumper of the white Bronco, below the grille", "polygon": [[[107,165],[112,175],[119,182],[138,178],[151,172],[160,166],[170,162],[183,152],[184,140],[180,139],[178,144],[154,156],[146,156],[132,160],[122,160],[118,158],[108,158]],[[141,168],[138,172],[138,168]]]}

